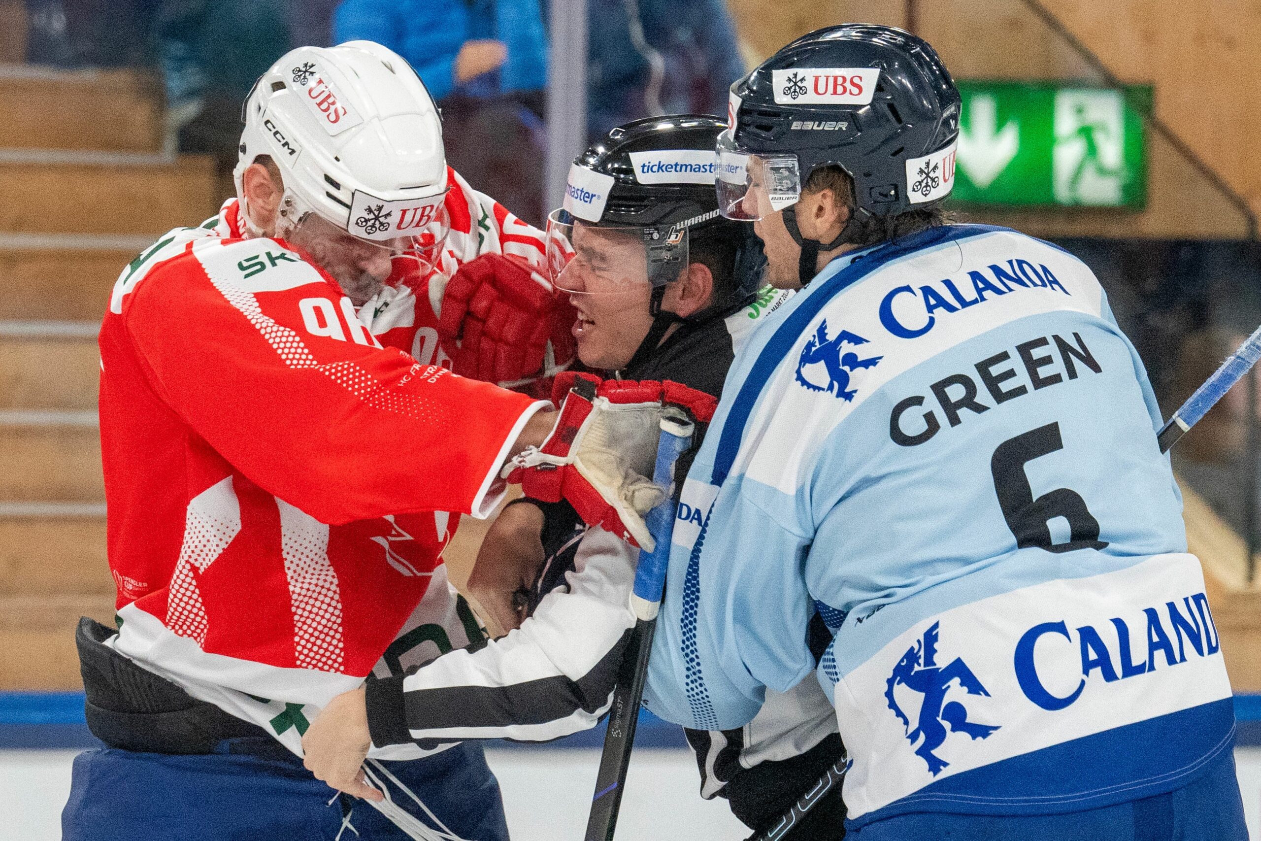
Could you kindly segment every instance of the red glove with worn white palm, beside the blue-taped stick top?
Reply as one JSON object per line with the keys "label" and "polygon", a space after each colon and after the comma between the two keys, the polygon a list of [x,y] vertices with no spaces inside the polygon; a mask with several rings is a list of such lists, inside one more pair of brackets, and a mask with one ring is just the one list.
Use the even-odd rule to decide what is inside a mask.
{"label": "red glove with worn white palm, beside the blue-taped stick top", "polygon": [[718,401],[676,382],[570,372],[556,378],[555,393],[554,400],[564,396],[556,426],[542,446],[507,465],[508,482],[520,482],[535,499],[567,499],[589,525],[651,551],[643,517],[665,493],[652,483],[662,406],[682,406],[709,421]]}

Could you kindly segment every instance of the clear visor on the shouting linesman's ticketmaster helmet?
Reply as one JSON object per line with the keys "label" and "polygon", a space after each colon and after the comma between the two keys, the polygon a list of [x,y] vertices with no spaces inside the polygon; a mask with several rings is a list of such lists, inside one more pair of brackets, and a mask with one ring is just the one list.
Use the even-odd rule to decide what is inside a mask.
{"label": "clear visor on the shouting linesman's ticketmaster helmet", "polygon": [[556,289],[618,295],[665,286],[687,267],[687,229],[594,224],[547,217],[547,270]]}

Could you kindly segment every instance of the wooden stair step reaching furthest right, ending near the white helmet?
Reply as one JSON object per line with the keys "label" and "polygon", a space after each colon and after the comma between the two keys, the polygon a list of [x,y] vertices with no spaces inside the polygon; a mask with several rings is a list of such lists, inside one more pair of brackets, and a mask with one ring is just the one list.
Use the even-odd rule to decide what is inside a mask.
{"label": "wooden stair step reaching furthest right, ending near the white helmet", "polygon": [[0,156],[0,231],[11,233],[126,233],[153,240],[200,224],[217,209],[209,158],[113,158],[50,163]]}

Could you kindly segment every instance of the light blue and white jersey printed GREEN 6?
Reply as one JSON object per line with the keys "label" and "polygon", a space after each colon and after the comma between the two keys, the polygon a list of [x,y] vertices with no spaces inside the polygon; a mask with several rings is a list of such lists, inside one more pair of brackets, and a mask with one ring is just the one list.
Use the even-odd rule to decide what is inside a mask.
{"label": "light blue and white jersey printed GREEN 6", "polygon": [[816,668],[855,825],[1050,813],[1233,740],[1142,363],[1063,250],[947,226],[842,257],[750,337],[686,479],[647,702],[747,722]]}

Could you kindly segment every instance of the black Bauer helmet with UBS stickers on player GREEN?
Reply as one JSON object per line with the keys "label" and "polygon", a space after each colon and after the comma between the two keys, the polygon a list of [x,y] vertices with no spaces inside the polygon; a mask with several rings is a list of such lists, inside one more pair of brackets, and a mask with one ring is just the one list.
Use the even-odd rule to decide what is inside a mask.
{"label": "black Bauer helmet with UBS stickers on player GREEN", "polygon": [[[718,145],[723,214],[784,211],[808,281],[807,257],[813,276],[818,251],[842,245],[866,219],[950,194],[958,116],[958,88],[923,39],[874,24],[815,30],[731,86],[730,129]],[[793,204],[810,174],[827,165],[852,179],[855,213],[835,241],[803,241]]]}

